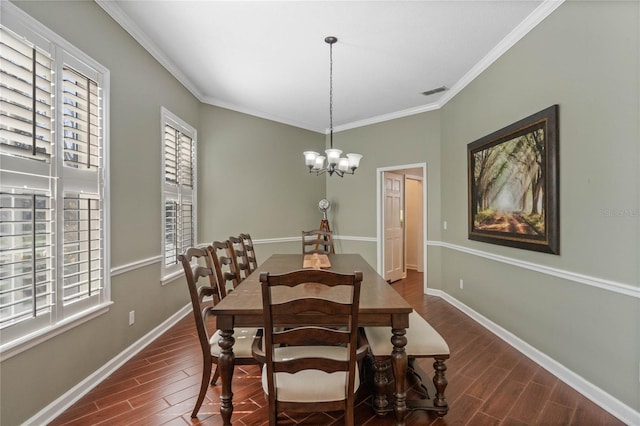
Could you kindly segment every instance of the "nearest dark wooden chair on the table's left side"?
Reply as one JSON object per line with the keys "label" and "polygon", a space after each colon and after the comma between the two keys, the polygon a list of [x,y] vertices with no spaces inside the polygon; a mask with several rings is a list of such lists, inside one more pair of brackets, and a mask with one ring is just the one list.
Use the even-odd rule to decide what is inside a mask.
{"label": "nearest dark wooden chair on the table's left side", "polygon": [[[211,327],[208,322],[210,316],[215,317],[211,314],[211,309],[220,300],[220,292],[218,291],[219,286],[217,285],[218,281],[213,258],[208,248],[191,247],[185,253],[180,254],[178,260],[182,263],[187,279],[198,340],[202,349],[202,381],[196,405],[191,413],[191,417],[196,417],[204,401],[209,384],[215,385],[220,377],[217,365],[221,352],[221,348],[218,345],[220,332]],[[204,301],[207,297],[212,297],[213,304],[205,304]],[[261,330],[258,328],[234,329],[235,344],[233,351],[237,365],[259,364],[253,357],[252,346],[254,339],[258,339],[260,334]],[[216,364],[216,370],[213,378],[211,378],[213,364]]]}

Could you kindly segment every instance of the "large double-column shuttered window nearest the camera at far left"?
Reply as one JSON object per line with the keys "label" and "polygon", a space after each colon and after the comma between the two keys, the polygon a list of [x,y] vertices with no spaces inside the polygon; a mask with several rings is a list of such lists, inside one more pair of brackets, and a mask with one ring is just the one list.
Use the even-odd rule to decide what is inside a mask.
{"label": "large double-column shuttered window nearest the camera at far left", "polygon": [[0,26],[2,355],[109,303],[109,72],[15,6]]}

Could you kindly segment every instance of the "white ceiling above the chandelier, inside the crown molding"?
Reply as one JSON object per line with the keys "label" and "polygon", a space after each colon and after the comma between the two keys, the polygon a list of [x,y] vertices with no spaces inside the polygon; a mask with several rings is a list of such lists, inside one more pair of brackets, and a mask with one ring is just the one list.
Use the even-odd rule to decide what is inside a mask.
{"label": "white ceiling above the chandelier, inside the crown molding", "polygon": [[324,133],[326,36],[339,131],[441,107],[562,0],[96,2],[200,101]]}

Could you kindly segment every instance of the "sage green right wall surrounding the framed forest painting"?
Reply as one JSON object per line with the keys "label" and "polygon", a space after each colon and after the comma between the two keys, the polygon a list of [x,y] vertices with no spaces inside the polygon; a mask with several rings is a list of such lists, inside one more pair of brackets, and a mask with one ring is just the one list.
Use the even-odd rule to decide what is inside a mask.
{"label": "sage green right wall surrounding the framed forest painting", "polygon": [[[637,296],[465,249],[578,280],[640,285],[639,9],[638,2],[564,3],[441,111],[442,220],[449,225],[442,235],[452,247],[443,252],[443,290],[636,411]],[[560,255],[469,241],[467,144],[553,104],[560,125]]]}

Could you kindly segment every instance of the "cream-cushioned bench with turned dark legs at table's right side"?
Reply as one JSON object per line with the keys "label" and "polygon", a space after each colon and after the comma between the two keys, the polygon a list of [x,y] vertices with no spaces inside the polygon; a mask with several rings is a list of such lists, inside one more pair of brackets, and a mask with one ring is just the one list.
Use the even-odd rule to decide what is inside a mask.
{"label": "cream-cushioned bench with turned dark legs at table's right side", "polygon": [[[409,315],[409,328],[406,329],[407,345],[405,352],[409,358],[408,374],[413,374],[417,379],[428,375],[420,371],[416,365],[416,358],[432,358],[434,360],[433,383],[428,380],[421,382],[424,392],[422,398],[407,399],[409,410],[435,411],[442,417],[449,411],[449,405],[444,396],[447,387],[445,371],[447,366],[444,361],[449,358],[449,346],[442,336],[417,312]],[[388,327],[364,327],[364,333],[369,345],[369,352],[373,358],[373,370],[375,375],[376,392],[373,401],[374,410],[379,415],[391,410],[386,386],[388,385],[388,373],[391,368],[391,329]]]}

